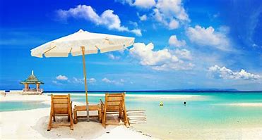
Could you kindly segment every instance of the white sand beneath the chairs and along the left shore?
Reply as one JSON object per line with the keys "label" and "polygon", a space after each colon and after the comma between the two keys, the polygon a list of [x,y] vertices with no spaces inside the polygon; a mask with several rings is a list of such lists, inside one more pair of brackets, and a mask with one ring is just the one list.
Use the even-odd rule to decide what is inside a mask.
{"label": "white sand beneath the chairs and along the left shore", "polygon": [[[0,96],[0,101],[49,103],[49,100],[50,96],[46,95]],[[109,125],[105,129],[98,122],[84,120],[74,125],[73,131],[69,127],[59,127],[47,132],[49,111],[49,108],[40,108],[0,112],[0,139],[154,139],[125,126]]]}

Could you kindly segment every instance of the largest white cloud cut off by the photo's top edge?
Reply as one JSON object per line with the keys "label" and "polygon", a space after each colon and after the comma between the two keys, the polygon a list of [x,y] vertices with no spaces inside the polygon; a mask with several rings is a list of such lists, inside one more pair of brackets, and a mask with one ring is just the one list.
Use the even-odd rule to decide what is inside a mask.
{"label": "largest white cloud cut off by the photo's top edge", "polygon": [[179,27],[179,22],[189,22],[189,15],[184,10],[181,0],[159,0],[153,9],[155,20],[162,23],[169,30]]}

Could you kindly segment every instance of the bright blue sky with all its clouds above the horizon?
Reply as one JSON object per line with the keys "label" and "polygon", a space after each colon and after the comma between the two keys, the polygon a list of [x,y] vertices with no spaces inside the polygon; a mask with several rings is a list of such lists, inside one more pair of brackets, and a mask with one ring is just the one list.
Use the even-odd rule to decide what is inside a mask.
{"label": "bright blue sky with all its clouds above the horizon", "polygon": [[44,90],[84,90],[80,56],[30,56],[83,29],[136,38],[86,56],[90,90],[262,90],[259,0],[11,0],[0,11],[0,89],[22,89],[34,70]]}

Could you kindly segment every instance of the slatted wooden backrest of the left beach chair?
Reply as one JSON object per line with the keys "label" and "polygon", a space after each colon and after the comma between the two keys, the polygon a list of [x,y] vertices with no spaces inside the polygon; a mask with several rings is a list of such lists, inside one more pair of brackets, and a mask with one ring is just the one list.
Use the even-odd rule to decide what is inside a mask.
{"label": "slatted wooden backrest of the left beach chair", "polygon": [[68,114],[70,108],[70,94],[53,95],[51,94],[51,106],[55,114]]}

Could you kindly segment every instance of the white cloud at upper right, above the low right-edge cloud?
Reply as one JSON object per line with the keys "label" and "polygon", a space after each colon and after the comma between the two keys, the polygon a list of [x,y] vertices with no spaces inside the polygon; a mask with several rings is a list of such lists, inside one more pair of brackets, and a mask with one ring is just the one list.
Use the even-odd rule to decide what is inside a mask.
{"label": "white cloud at upper right, above the low right-edge cloud", "polygon": [[201,27],[196,25],[195,27],[189,27],[186,30],[186,34],[190,41],[201,46],[214,46],[222,51],[232,50],[229,46],[227,39],[227,30],[222,27],[222,30],[215,31],[213,27]]}

